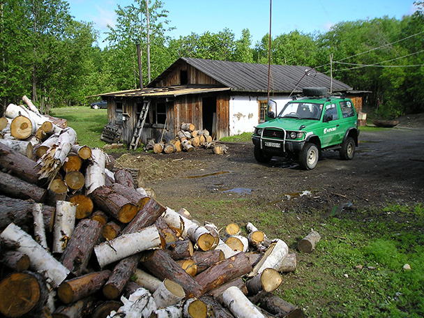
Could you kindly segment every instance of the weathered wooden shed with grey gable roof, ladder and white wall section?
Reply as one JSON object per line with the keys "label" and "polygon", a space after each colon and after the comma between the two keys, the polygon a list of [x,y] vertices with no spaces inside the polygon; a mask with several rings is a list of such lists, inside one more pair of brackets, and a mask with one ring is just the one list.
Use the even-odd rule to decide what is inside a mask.
{"label": "weathered wooden shed with grey gable roof, ladder and white wall section", "polygon": [[[305,66],[271,65],[270,78],[270,98],[282,105],[303,87],[332,87],[333,93],[352,89]],[[99,95],[108,102],[105,129],[118,133],[125,144],[135,132],[143,143],[162,135],[172,139],[181,123],[220,139],[252,132],[264,120],[268,65],[181,57],[144,89]],[[140,117],[145,117],[141,131]]]}

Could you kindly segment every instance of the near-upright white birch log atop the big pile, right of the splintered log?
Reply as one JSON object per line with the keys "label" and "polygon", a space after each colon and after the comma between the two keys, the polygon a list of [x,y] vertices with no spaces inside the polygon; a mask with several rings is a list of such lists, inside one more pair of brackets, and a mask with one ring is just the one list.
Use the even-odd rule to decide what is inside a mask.
{"label": "near-upright white birch log atop the big pile, right of the splintered log", "polygon": [[96,190],[98,187],[105,185],[105,165],[106,154],[102,149],[91,149],[91,165],[87,167],[85,174],[86,194]]}

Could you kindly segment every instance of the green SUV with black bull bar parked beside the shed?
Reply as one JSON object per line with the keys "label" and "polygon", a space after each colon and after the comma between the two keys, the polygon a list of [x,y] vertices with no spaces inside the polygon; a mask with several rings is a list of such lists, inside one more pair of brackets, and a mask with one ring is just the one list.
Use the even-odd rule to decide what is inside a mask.
{"label": "green SUV with black bull bar parked beside the shed", "polygon": [[353,159],[359,135],[354,104],[326,93],[326,88],[305,88],[302,98],[289,101],[279,113],[277,103],[270,100],[268,121],[252,134],[255,159],[268,163],[273,156],[285,156],[307,170],[317,166],[323,150],[338,150],[340,158]]}

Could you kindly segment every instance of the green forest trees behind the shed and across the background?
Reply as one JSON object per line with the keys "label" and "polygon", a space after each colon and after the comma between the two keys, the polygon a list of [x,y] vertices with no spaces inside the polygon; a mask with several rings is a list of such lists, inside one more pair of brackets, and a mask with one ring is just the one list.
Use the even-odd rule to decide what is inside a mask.
{"label": "green forest trees behind the shed and across the background", "polygon": [[[306,66],[355,90],[370,91],[365,107],[381,118],[424,112],[424,1],[412,15],[346,21],[327,32],[271,36],[271,63]],[[269,35],[252,43],[223,27],[218,33],[192,32],[171,38],[167,10],[149,2],[147,63],[146,1],[116,9],[109,45],[96,45],[99,31],[75,21],[62,0],[0,0],[0,115],[9,103],[31,96],[43,112],[53,107],[89,105],[86,98],[139,88],[137,43],[144,85],[179,57],[268,63]],[[347,15],[349,17],[349,15]]]}

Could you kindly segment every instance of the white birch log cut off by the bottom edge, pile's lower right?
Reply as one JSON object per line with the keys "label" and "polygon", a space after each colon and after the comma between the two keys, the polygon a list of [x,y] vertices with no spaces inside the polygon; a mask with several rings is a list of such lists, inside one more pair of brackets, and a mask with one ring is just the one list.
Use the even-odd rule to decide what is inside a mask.
{"label": "white birch log cut off by the bottom edge, pile's lower right", "polygon": [[222,294],[222,301],[236,318],[265,318],[237,287],[229,287]]}

